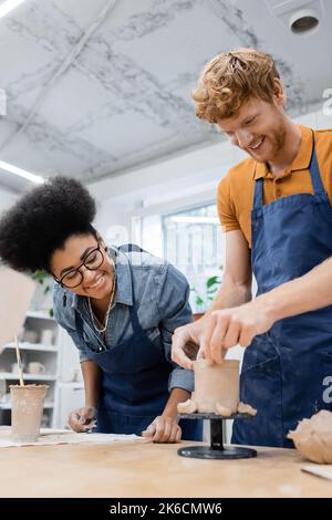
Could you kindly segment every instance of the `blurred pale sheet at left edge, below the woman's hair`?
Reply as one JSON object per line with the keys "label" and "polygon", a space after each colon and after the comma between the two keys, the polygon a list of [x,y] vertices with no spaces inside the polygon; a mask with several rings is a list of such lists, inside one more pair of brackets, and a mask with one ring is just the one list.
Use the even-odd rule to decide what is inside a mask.
{"label": "blurred pale sheet at left edge, below the woman's hair", "polygon": [[34,289],[31,278],[0,267],[0,352],[20,333]]}

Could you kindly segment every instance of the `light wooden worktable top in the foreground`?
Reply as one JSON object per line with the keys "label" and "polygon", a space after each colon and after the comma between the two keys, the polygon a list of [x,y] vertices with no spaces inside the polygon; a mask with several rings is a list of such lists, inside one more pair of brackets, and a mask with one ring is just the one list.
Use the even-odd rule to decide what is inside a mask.
{"label": "light wooden worktable top in the foreground", "polygon": [[291,449],[258,457],[179,457],[181,445],[134,441],[0,449],[1,497],[332,497],[332,482],[303,474]]}

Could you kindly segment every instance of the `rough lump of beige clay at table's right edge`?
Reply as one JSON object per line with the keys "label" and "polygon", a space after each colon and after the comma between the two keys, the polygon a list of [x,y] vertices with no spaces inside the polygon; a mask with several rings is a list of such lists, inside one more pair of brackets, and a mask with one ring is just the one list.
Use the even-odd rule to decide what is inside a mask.
{"label": "rough lump of beige clay at table's right edge", "polygon": [[332,413],[322,409],[310,419],[303,419],[288,438],[309,460],[332,464]]}

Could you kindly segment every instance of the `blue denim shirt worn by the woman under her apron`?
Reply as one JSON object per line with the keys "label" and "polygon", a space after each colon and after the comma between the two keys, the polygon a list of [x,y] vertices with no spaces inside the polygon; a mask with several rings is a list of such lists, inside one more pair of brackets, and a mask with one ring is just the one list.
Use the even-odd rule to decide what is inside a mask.
{"label": "blue denim shirt worn by the woman under her apron", "polygon": [[[169,392],[173,388],[193,392],[193,371],[179,367],[170,358],[174,330],[193,321],[186,278],[174,266],[142,251],[137,246],[111,247],[108,254],[115,264],[117,288],[104,334],[94,327],[87,299],[54,283],[54,318],[72,337],[79,350],[80,361],[91,358],[91,349],[96,352],[112,349],[133,334],[129,306],[135,303],[141,326],[155,343],[156,349],[164,350],[165,358],[174,366],[168,382]],[[132,283],[135,301],[133,301]],[[83,337],[76,331],[75,312],[79,312],[83,320]]]}

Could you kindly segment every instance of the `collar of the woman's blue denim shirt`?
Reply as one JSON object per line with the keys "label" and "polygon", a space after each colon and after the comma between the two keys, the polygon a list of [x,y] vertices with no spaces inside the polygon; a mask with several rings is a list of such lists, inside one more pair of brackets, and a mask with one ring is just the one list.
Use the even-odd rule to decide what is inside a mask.
{"label": "collar of the woman's blue denim shirt", "polygon": [[[132,269],[128,258],[120,249],[108,246],[107,253],[114,262],[116,273],[116,297],[115,305],[124,303],[125,305],[133,305],[133,285],[132,285]],[[72,308],[77,311],[83,311],[85,308],[85,297],[73,294]]]}

